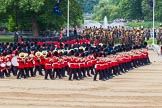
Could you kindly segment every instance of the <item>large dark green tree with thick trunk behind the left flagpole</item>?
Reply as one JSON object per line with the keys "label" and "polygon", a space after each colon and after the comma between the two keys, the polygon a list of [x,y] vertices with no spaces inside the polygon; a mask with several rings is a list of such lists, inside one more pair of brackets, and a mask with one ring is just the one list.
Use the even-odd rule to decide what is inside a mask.
{"label": "large dark green tree with thick trunk behind the left flagpole", "polygon": [[[79,25],[83,22],[81,0],[70,1],[70,24]],[[18,18],[18,28],[33,31],[34,36],[40,30],[65,27],[67,23],[67,0],[62,0],[60,10],[62,16],[53,14],[57,0],[0,0],[0,14],[6,13]]]}

